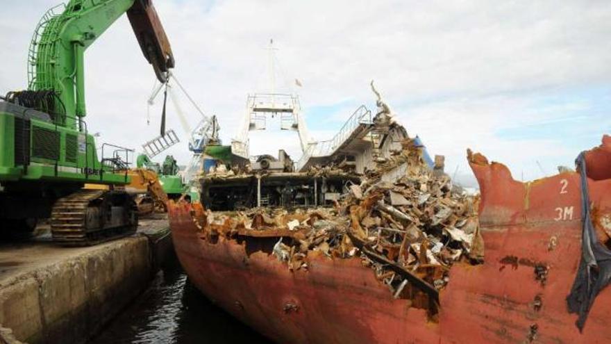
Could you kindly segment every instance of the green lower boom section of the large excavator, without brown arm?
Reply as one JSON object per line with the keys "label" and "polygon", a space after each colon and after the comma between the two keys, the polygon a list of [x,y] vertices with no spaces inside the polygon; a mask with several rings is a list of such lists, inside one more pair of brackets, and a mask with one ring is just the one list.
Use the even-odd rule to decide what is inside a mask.
{"label": "green lower boom section of the large excavator, without brown arm", "polygon": [[[62,125],[77,128],[85,117],[84,54],[134,0],[72,0],[62,13],[52,8],[38,24],[30,47],[30,90],[55,90],[65,106]],[[42,31],[42,32],[41,32]],[[33,69],[32,69],[33,68]],[[56,104],[56,113],[63,108]]]}

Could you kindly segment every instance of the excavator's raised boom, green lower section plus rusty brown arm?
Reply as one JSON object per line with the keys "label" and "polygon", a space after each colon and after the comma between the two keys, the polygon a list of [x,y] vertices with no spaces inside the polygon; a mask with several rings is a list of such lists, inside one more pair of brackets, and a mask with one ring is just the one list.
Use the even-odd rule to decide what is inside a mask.
{"label": "excavator's raised boom, green lower section plus rusty brown arm", "polygon": [[56,115],[58,124],[74,128],[85,116],[85,49],[124,13],[157,78],[167,80],[174,56],[150,0],[71,0],[61,13],[44,15],[28,61],[28,90],[53,94],[41,110]]}

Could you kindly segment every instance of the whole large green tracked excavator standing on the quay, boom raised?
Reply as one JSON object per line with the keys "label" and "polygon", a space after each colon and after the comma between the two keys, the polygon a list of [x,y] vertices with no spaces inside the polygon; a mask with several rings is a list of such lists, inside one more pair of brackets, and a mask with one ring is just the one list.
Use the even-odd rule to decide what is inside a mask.
{"label": "whole large green tracked excavator standing on the quay, boom raised", "polygon": [[[127,14],[162,83],[174,56],[150,0],[71,0],[51,8],[28,53],[28,89],[0,97],[0,232],[50,218],[53,240],[92,245],[133,233],[130,149],[101,145],[85,123],[85,50]],[[162,131],[165,127],[165,108]],[[122,172],[119,172],[122,171]],[[110,186],[87,190],[85,183]],[[0,233],[2,234],[2,233]]]}

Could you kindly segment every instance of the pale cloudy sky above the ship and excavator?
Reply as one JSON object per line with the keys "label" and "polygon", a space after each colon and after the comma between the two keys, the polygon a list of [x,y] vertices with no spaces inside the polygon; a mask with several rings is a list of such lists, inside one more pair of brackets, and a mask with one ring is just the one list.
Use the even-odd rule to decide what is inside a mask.
{"label": "pale cloudy sky above the ship and excavator", "polygon": [[[33,29],[53,0],[2,0],[0,92],[25,88]],[[312,136],[324,140],[360,104],[375,109],[374,79],[400,122],[446,170],[469,173],[467,147],[514,178],[553,174],[611,131],[611,1],[158,0],[175,74],[221,138],[237,134],[249,92],[267,88],[270,38],[278,88],[296,89]],[[85,55],[87,124],[101,140],[138,148],[158,134],[155,80],[124,16]],[[194,126],[199,115],[183,99]],[[287,147],[296,133],[251,136],[251,154]],[[168,127],[187,138],[171,106]]]}

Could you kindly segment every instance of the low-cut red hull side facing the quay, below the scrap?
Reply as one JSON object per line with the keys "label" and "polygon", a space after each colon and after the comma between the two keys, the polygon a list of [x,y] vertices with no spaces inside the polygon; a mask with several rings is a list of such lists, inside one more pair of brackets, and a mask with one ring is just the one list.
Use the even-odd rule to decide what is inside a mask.
{"label": "low-cut red hull side facing the quay, below the scrap", "polygon": [[[394,300],[359,258],[308,255],[290,272],[265,252],[235,240],[199,237],[190,204],[170,202],[172,240],[190,280],[211,300],[278,343],[437,343],[426,310]],[[200,211],[201,206],[194,204]],[[380,329],[385,329],[380,331]],[[391,330],[392,329],[392,330]]]}

